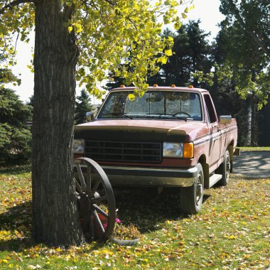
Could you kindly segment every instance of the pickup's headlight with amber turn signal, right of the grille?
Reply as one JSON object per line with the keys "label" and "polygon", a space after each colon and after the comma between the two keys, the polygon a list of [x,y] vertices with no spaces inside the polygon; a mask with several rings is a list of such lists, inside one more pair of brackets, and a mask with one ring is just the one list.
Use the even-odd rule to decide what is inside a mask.
{"label": "pickup's headlight with amber turn signal, right of the grille", "polygon": [[163,156],[165,158],[193,158],[194,144],[163,142]]}

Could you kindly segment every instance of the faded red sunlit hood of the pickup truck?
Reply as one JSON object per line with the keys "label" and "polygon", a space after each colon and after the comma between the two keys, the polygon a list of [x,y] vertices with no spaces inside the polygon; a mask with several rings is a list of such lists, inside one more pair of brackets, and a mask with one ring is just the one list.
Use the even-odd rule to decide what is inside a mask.
{"label": "faded red sunlit hood of the pickup truck", "polygon": [[135,132],[154,132],[167,135],[191,135],[197,129],[202,128],[203,123],[198,121],[183,120],[152,120],[152,119],[113,119],[97,120],[86,124],[75,126],[78,131],[135,131]]}

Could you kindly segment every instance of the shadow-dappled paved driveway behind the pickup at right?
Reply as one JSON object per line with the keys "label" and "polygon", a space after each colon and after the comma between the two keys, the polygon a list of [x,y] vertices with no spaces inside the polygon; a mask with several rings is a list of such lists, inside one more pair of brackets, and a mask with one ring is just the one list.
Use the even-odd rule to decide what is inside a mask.
{"label": "shadow-dappled paved driveway behind the pickup at right", "polygon": [[242,151],[234,156],[233,173],[244,178],[270,178],[270,151]]}

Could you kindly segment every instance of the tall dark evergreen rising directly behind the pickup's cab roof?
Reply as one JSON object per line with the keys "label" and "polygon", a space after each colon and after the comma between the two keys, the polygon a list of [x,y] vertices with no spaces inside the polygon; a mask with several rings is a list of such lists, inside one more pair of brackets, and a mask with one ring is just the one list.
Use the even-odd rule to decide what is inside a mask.
{"label": "tall dark evergreen rising directly behind the pickup's cab roof", "polygon": [[[164,34],[171,36],[170,31]],[[163,85],[198,85],[192,72],[210,72],[212,62],[211,45],[207,41],[209,35],[200,29],[200,21],[189,21],[178,30],[174,37],[173,55],[161,69]]]}

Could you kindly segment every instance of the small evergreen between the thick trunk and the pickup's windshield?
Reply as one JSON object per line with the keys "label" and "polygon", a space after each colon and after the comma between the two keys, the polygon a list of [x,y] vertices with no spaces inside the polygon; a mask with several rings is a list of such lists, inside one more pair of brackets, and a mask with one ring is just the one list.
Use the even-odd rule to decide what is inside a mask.
{"label": "small evergreen between the thick trunk and the pickup's windshield", "polygon": [[76,98],[74,123],[82,124],[86,121],[85,114],[92,111],[91,99],[86,90],[82,90]]}

